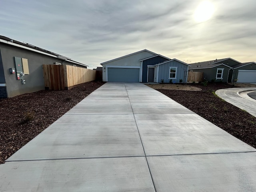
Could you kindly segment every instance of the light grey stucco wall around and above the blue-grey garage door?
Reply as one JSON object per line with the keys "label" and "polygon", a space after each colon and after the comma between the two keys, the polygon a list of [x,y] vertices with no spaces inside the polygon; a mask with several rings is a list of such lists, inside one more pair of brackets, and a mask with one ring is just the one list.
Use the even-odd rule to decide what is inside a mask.
{"label": "light grey stucco wall around and above the blue-grey garage door", "polygon": [[154,54],[147,52],[147,51],[143,51],[143,52],[139,52],[137,54],[133,54],[124,58],[120,58],[118,60],[114,60],[111,62],[108,62],[106,64],[102,64],[102,80],[104,82],[106,82],[106,67],[108,66],[141,66],[141,62],[140,60],[144,59],[144,58],[148,58],[154,56]]}

